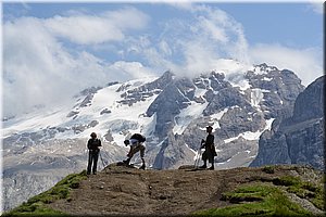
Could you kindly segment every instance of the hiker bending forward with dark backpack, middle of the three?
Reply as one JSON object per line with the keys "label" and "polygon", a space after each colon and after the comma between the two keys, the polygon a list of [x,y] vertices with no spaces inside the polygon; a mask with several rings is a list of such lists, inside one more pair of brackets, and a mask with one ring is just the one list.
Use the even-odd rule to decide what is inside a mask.
{"label": "hiker bending forward with dark backpack, middle of the three", "polygon": [[145,145],[143,142],[146,141],[146,138],[142,135],[139,133],[135,133],[130,137],[129,140],[125,140],[124,143],[125,145],[130,145],[130,150],[127,154],[127,159],[123,161],[126,165],[129,165],[131,157],[134,156],[134,154],[136,154],[137,152],[140,151],[140,157],[142,161],[142,165],[141,167],[139,167],[139,169],[145,169],[146,165],[145,165],[145,159],[143,159],[143,155],[145,155]]}

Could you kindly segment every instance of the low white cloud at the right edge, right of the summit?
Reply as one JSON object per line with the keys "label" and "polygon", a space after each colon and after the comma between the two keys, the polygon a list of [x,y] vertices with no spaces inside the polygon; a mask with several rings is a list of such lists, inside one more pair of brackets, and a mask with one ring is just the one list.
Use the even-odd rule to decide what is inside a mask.
{"label": "low white cloud at the right edge, right of the summit", "polygon": [[255,63],[274,65],[278,69],[290,69],[304,86],[323,75],[323,53],[318,49],[292,49],[280,44],[256,44],[250,49]]}

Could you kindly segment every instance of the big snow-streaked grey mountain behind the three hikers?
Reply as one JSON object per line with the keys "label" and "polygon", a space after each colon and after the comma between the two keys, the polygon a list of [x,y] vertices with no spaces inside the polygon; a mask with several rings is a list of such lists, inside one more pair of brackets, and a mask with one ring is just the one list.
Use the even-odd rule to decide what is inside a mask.
{"label": "big snow-streaked grey mountain behind the three hikers", "polygon": [[[147,137],[148,167],[193,164],[208,125],[214,128],[216,168],[248,166],[262,132],[276,117],[291,113],[303,86],[287,69],[220,63],[220,68],[192,78],[165,72],[92,87],[68,107],[4,120],[4,209],[86,168],[92,131],[103,142],[100,168],[126,157],[123,140],[134,132]],[[134,161],[137,164],[138,156]]]}

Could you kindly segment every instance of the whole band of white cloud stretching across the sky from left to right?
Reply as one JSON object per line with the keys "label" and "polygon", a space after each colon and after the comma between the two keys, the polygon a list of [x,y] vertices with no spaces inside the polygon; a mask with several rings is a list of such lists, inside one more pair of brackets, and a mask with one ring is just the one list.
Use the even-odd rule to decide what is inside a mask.
{"label": "whole band of white cloud stretching across the sky from left to right", "polygon": [[[7,21],[4,115],[28,112],[39,104],[58,104],[84,88],[147,77],[153,72],[172,69],[195,76],[224,67],[222,58],[288,68],[304,85],[322,75],[322,51],[279,44],[249,49],[242,25],[224,11],[187,2],[172,5],[188,13],[187,18],[172,17],[159,26],[160,33],[148,33],[152,30],[150,17],[134,8],[97,15],[84,11]],[[73,46],[65,47],[62,39]],[[76,44],[78,49],[74,49]],[[117,61],[109,63],[92,51],[113,53]]]}

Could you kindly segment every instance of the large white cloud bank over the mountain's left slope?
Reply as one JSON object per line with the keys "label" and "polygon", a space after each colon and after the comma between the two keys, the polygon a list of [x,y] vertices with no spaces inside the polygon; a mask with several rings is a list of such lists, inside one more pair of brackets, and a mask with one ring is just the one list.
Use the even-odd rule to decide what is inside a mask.
{"label": "large white cloud bank over the mountain's left slope", "polygon": [[[118,39],[128,29],[142,28],[146,25],[146,22],[142,22],[143,17],[146,16],[142,13],[134,9],[125,9],[108,12],[102,17],[92,17],[92,20],[89,20],[90,16],[48,20],[20,17],[5,22],[3,25],[3,115],[30,112],[35,106],[40,105],[62,104],[78,91],[91,86],[148,76],[150,69],[139,63],[109,64],[86,50],[71,53],[71,50],[60,40],[61,37],[65,37],[75,43],[88,44],[112,40],[112,35],[105,34],[114,33],[108,27],[115,21],[116,33],[120,33],[115,37]],[[126,18],[139,21],[139,24],[127,24]]]}

